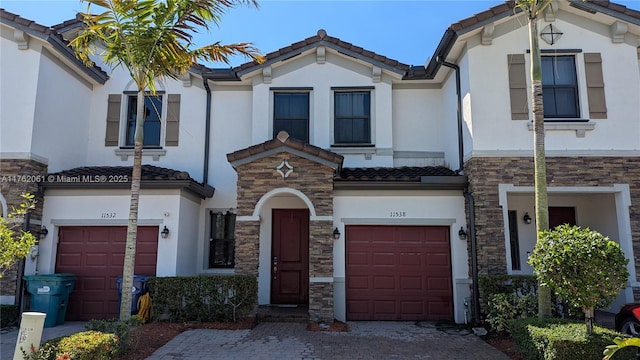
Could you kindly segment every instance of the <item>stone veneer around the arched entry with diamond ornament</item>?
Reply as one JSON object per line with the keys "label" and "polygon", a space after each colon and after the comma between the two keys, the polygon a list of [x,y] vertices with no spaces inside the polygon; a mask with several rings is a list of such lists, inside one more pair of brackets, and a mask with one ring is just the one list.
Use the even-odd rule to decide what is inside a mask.
{"label": "stone veneer around the arched entry with diamond ornament", "polygon": [[[276,168],[286,160],[293,172],[283,178]],[[286,168],[283,169],[286,171]],[[333,169],[282,152],[240,165],[238,173],[238,217],[253,215],[258,201],[269,191],[291,188],[304,193],[313,203],[316,216],[333,216]],[[333,223],[309,222],[309,276],[333,278]],[[236,272],[258,275],[260,224],[236,223]],[[312,319],[333,320],[333,283],[310,282],[309,315]]]}

